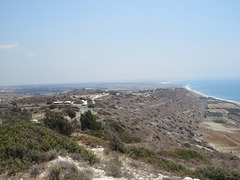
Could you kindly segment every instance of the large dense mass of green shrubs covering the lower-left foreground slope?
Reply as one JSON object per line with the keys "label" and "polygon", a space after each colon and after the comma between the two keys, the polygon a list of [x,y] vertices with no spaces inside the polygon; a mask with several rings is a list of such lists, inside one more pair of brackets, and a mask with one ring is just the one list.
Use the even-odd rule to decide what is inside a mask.
{"label": "large dense mass of green shrubs covering the lower-left foreground slope", "polygon": [[93,153],[67,136],[24,120],[1,125],[0,142],[0,174],[5,171],[15,174],[28,169],[32,164],[49,160],[49,152],[53,152],[50,153],[53,157],[61,150],[80,153],[90,164],[98,161]]}

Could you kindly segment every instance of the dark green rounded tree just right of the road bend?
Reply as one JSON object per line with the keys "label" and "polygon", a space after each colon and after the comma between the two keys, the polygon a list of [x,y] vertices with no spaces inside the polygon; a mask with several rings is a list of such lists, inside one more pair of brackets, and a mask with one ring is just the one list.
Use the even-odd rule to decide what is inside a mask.
{"label": "dark green rounded tree just right of the road bend", "polygon": [[91,111],[87,111],[81,115],[80,118],[82,130],[90,129],[98,131],[102,128],[101,122],[96,121],[96,117],[92,114]]}

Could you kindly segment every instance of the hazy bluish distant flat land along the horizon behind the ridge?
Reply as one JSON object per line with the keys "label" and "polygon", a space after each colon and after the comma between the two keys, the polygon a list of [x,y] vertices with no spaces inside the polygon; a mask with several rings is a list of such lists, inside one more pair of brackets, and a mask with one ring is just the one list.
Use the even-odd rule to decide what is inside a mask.
{"label": "hazy bluish distant flat land along the horizon behind the ridge", "polygon": [[99,90],[138,91],[168,87],[178,86],[166,84],[163,82],[75,83],[75,84],[0,86],[0,102],[11,101],[19,97],[61,95],[74,89],[83,88]]}

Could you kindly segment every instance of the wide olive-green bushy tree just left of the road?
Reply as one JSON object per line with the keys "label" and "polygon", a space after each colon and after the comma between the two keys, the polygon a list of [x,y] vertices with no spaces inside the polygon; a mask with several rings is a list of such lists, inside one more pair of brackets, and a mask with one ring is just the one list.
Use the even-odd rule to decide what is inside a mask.
{"label": "wide olive-green bushy tree just left of the road", "polygon": [[74,127],[56,112],[47,110],[43,122],[45,126],[66,136],[69,136],[74,131]]}

